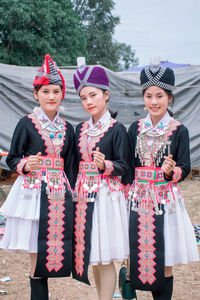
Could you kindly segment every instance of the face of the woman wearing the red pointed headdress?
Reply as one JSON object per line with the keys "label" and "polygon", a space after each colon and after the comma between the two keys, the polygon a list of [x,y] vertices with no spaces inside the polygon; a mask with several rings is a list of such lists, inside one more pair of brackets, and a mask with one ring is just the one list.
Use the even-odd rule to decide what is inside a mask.
{"label": "face of the woman wearing the red pointed headdress", "polygon": [[35,99],[39,101],[42,110],[52,121],[56,116],[57,109],[62,100],[62,89],[60,85],[42,85],[38,91],[34,90],[33,93]]}

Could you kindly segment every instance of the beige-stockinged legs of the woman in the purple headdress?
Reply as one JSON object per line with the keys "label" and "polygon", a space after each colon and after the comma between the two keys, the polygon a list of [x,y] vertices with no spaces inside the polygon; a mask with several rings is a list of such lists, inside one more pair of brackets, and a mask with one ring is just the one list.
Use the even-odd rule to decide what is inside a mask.
{"label": "beige-stockinged legs of the woman in the purple headdress", "polygon": [[114,262],[109,265],[98,265],[100,278],[99,300],[112,300],[115,291],[117,276]]}

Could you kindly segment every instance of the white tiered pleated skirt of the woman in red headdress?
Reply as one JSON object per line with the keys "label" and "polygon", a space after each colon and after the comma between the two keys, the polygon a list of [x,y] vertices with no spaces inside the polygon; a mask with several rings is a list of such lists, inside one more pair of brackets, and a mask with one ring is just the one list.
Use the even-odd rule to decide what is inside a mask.
{"label": "white tiered pleated skirt of the woman in red headdress", "polygon": [[37,252],[40,189],[23,189],[24,176],[13,184],[0,213],[6,218],[6,227],[0,248],[8,251]]}

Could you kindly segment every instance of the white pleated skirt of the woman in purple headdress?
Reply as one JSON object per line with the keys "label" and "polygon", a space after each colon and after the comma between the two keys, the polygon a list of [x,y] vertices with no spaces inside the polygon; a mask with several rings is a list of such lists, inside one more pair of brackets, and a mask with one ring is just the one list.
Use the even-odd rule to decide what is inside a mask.
{"label": "white pleated skirt of the woman in purple headdress", "polygon": [[94,202],[90,264],[109,264],[129,256],[128,207],[121,191],[110,192],[103,187]]}

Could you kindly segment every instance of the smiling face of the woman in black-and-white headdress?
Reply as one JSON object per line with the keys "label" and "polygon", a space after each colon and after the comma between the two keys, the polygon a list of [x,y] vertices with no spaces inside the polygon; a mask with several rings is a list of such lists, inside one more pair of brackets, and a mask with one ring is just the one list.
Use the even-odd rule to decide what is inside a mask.
{"label": "smiling face of the woman in black-and-white headdress", "polygon": [[158,86],[151,86],[144,92],[144,103],[150,114],[153,125],[156,125],[167,112],[168,103],[173,96],[169,96],[165,90]]}

